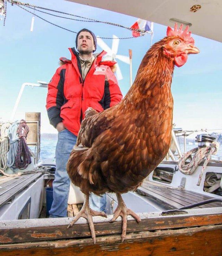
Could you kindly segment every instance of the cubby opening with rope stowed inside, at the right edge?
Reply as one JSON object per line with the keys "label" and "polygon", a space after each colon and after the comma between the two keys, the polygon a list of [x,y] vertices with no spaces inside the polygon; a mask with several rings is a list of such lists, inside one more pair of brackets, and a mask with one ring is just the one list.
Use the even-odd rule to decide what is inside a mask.
{"label": "cubby opening with rope stowed inside, at the right edge", "polygon": [[206,173],[204,191],[212,194],[222,195],[222,173]]}

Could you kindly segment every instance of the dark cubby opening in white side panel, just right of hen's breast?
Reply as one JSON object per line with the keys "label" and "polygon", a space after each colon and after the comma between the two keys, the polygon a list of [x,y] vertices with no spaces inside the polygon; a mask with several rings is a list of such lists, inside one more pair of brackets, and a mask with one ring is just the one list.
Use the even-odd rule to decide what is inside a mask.
{"label": "dark cubby opening in white side panel, just right of hen's breast", "polygon": [[153,180],[170,184],[172,182],[174,169],[170,167],[156,167],[153,171]]}

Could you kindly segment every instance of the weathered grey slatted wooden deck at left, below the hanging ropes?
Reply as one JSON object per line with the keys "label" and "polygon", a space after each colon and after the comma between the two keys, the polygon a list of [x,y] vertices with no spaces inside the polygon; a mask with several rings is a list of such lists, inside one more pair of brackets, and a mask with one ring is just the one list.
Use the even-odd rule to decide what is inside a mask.
{"label": "weathered grey slatted wooden deck at left, below the hanging ropes", "polygon": [[15,195],[29,186],[42,175],[39,173],[23,174],[21,176],[0,177],[0,207],[14,199]]}

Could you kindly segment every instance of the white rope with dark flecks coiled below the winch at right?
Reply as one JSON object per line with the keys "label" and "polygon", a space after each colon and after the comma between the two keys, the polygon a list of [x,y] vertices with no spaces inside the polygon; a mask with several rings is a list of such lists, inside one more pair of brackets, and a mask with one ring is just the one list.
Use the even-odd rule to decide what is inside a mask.
{"label": "white rope with dark flecks coiled below the winch at right", "polygon": [[[212,154],[215,155],[218,149],[219,149],[219,143],[214,141],[212,142],[211,146],[201,147],[201,148],[196,147],[195,149],[188,151],[185,155],[183,155],[183,157],[180,159],[178,163],[179,170],[181,171],[181,173],[185,175],[192,174],[196,170],[201,160],[206,157],[206,160],[204,161],[203,168],[199,174],[199,178],[197,182],[197,186],[199,186],[204,170],[211,159],[211,155]],[[192,157],[192,154],[194,154],[193,157]],[[186,163],[187,159],[191,159],[191,161],[189,163]]]}

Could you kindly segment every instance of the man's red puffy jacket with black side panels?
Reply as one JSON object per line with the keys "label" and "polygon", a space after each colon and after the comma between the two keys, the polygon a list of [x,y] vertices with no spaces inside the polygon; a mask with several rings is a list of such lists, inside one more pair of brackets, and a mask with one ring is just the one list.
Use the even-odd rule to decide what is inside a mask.
{"label": "man's red puffy jacket with black side panels", "polygon": [[122,94],[114,73],[101,62],[105,51],[95,56],[83,81],[78,54],[74,48],[69,50],[71,61],[62,58],[65,64],[49,82],[46,109],[51,125],[62,121],[77,136],[88,107],[101,112],[120,102]]}

